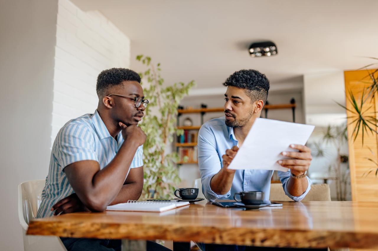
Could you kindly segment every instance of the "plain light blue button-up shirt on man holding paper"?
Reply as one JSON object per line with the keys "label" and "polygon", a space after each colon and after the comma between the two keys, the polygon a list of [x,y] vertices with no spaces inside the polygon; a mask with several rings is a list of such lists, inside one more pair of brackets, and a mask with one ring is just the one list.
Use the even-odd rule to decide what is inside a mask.
{"label": "plain light blue button-up shirt on man holding paper", "polygon": [[[236,192],[263,191],[265,193],[264,199],[269,200],[273,170],[236,170],[230,191],[219,195],[211,190],[210,181],[212,177],[223,168],[222,155],[226,153],[227,149],[237,145],[238,141],[234,135],[234,128],[226,125],[225,117],[211,119],[201,126],[197,147],[203,194],[208,200],[214,201],[231,199]],[[278,175],[285,194],[294,201],[302,200],[310,191],[311,180],[306,177],[308,180],[306,191],[301,196],[292,196],[287,191],[290,170],[287,172],[279,171]]]}

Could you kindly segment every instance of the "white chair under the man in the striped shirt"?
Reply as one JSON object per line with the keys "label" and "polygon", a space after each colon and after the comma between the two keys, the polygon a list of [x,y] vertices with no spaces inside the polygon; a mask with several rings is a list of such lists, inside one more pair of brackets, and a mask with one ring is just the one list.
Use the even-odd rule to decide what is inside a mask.
{"label": "white chair under the man in the striped shirt", "polygon": [[25,251],[67,251],[62,241],[56,236],[27,236],[26,230],[30,220],[36,217],[42,200],[45,180],[30,180],[18,186],[19,221],[22,226]]}

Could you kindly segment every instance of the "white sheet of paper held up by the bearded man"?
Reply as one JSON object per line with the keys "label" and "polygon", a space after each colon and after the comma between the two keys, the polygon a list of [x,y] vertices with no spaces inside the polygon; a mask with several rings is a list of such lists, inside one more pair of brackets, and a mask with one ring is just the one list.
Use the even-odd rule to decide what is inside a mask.
{"label": "white sheet of paper held up by the bearded man", "polygon": [[277,163],[287,159],[280,153],[296,151],[290,144],[306,144],[313,130],[313,125],[257,118],[228,168],[286,172],[288,169]]}

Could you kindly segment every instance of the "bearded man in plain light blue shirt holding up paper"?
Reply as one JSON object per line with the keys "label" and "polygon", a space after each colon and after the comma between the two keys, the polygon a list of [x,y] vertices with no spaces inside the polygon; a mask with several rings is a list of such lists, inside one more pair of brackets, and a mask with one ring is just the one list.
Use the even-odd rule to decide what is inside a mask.
{"label": "bearded man in plain light blue shirt holding up paper", "polygon": [[[269,81],[256,70],[240,70],[226,79],[225,117],[211,119],[201,126],[198,133],[198,165],[205,197],[232,199],[236,192],[263,191],[269,200],[272,170],[231,170],[229,163],[242,146],[249,129],[260,117],[268,98]],[[311,151],[302,145],[291,145],[296,151],[282,152],[290,157],[279,164],[290,170],[278,172],[285,194],[300,201],[310,191],[307,177]],[[253,160],[251,160],[253,161]],[[206,245],[208,250],[249,250],[250,247]],[[253,250],[258,250],[254,247]],[[251,250],[252,250],[251,249]],[[266,249],[264,249],[266,250]]]}

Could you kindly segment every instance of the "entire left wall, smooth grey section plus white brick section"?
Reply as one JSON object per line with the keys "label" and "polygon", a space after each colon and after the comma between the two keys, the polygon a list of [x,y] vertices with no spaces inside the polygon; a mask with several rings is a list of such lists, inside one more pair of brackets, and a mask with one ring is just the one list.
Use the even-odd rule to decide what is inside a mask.
{"label": "entire left wall, smooth grey section plus white brick section", "polygon": [[57,131],[95,111],[96,78],[129,67],[130,40],[99,12],[68,0],[1,0],[0,34],[0,247],[19,251],[17,184],[45,179]]}

